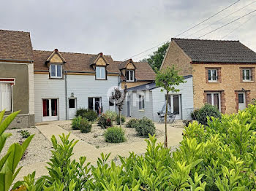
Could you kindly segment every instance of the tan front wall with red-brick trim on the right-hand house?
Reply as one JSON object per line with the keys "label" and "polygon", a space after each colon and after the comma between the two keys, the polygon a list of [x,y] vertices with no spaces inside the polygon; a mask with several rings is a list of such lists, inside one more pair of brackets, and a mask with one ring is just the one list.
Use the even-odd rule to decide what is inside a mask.
{"label": "tan front wall with red-brick trim on the right-hand house", "polygon": [[[242,88],[246,91],[246,105],[250,104],[252,98],[256,98],[256,82],[241,82],[241,68],[255,68],[256,63],[192,63],[192,66],[195,109],[200,108],[206,103],[205,91],[221,93],[221,109],[222,112],[227,114],[238,111],[235,91],[242,91]],[[207,82],[207,80],[204,80],[206,79],[206,68],[220,68],[220,82]],[[252,75],[255,75],[254,70],[252,71]]]}

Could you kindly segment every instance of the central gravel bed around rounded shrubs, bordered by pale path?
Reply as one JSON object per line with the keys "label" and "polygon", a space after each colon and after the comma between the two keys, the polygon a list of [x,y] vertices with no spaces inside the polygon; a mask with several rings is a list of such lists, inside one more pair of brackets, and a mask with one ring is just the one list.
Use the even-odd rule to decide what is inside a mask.
{"label": "central gravel bed around rounded shrubs, bordered by pale path", "polygon": [[[118,126],[118,125],[117,125]],[[60,125],[61,128],[70,131],[75,136],[78,136],[83,141],[86,141],[89,144],[94,145],[95,147],[108,147],[112,145],[116,145],[113,143],[107,143],[105,141],[104,133],[105,129],[102,129],[97,125],[97,122],[94,122],[92,125],[92,129],[90,133],[81,133],[80,130],[72,130],[71,125]],[[126,128],[125,125],[122,125],[122,128],[125,130],[125,136],[127,141],[120,144],[127,144],[132,142],[144,141],[146,138],[138,136],[137,131],[134,128]],[[156,129],[156,136],[161,137],[164,136],[164,132],[162,130]]]}

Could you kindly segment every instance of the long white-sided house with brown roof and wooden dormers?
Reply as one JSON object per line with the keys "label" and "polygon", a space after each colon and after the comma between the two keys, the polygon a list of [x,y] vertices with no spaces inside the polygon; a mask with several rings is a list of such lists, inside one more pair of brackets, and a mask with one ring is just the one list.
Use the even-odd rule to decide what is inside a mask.
{"label": "long white-sided house with brown roof and wooden dormers", "polygon": [[98,114],[116,111],[109,98],[127,75],[133,86],[153,81],[145,76],[145,68],[151,70],[150,79],[154,77],[148,63],[129,60],[121,65],[123,63],[103,53],[92,55],[56,49],[53,52],[34,50],[33,54],[36,122],[72,119],[81,107]]}

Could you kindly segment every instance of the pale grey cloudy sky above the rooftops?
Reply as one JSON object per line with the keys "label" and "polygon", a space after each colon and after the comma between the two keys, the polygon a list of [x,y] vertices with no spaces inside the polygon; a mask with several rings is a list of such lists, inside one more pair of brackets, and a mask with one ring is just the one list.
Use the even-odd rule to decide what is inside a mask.
{"label": "pale grey cloudy sky above the rooftops", "polygon": [[[1,0],[0,28],[31,32],[35,50],[112,55],[129,58],[165,42],[237,0]],[[241,0],[221,14],[178,37],[187,37],[255,0]],[[197,38],[256,9],[256,2],[226,19],[200,30]],[[255,15],[255,17],[252,17]],[[242,23],[247,23],[241,26]],[[256,51],[256,12],[203,39],[238,39]],[[138,61],[153,50],[133,58]]]}

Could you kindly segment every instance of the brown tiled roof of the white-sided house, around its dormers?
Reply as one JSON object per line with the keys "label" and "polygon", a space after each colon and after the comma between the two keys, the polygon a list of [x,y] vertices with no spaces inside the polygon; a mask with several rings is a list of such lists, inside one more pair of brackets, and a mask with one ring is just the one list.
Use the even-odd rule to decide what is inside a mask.
{"label": "brown tiled roof of the white-sided house, around its dormers", "polygon": [[[34,50],[34,70],[35,71],[48,71],[48,66],[45,61],[52,54],[52,51]],[[80,71],[80,72],[92,72],[94,69],[91,67],[91,63],[98,58],[99,55],[72,53],[72,52],[59,52],[65,59],[66,71]],[[104,55],[106,61],[110,63],[108,66],[108,72],[119,73],[118,66],[113,62],[110,55]]]}

